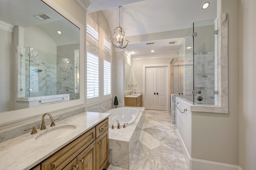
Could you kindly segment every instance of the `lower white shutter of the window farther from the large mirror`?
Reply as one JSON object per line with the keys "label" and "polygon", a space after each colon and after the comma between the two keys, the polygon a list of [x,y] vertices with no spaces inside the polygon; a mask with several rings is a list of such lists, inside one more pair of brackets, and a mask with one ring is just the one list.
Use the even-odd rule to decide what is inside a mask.
{"label": "lower white shutter of the window farther from the large mirror", "polygon": [[103,60],[103,95],[111,94],[111,63]]}

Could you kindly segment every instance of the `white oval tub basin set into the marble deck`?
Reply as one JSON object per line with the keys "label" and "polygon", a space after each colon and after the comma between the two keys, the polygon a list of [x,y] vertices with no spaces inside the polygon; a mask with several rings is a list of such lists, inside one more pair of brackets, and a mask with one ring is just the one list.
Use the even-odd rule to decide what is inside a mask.
{"label": "white oval tub basin set into the marble deck", "polygon": [[110,117],[108,118],[109,124],[117,126],[117,120],[120,123],[120,126],[124,125],[124,123],[128,123],[127,125],[131,125],[134,123],[136,118],[140,113],[140,109],[132,108],[132,107],[120,107],[115,109],[110,109],[106,111],[106,113],[110,113]]}

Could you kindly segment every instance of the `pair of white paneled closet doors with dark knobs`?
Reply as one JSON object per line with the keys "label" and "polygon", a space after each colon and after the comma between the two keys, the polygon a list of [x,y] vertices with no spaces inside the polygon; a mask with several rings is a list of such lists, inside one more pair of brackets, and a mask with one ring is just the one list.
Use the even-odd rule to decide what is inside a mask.
{"label": "pair of white paneled closet doors with dark knobs", "polygon": [[146,109],[168,110],[168,67],[146,67]]}

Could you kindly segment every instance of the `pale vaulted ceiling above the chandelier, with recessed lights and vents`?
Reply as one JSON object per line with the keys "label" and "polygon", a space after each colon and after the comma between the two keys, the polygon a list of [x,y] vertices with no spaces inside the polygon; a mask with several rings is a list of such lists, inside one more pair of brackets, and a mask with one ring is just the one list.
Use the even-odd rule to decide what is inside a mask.
{"label": "pale vaulted ceiling above the chandelier, with recessed lights and vents", "polygon": [[[202,10],[204,2],[210,6]],[[119,8],[120,26],[130,41],[127,49],[134,51],[133,57],[173,54],[178,49],[180,38],[186,35],[193,22],[214,20],[217,17],[217,0],[91,0],[88,12],[101,10],[110,30],[118,27]],[[163,43],[176,41],[175,44]],[[157,42],[148,47],[146,42]]]}

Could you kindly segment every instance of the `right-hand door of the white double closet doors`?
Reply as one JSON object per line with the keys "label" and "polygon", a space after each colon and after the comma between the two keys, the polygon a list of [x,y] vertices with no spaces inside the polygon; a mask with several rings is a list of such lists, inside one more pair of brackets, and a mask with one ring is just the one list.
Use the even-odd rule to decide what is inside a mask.
{"label": "right-hand door of the white double closet doors", "polygon": [[168,69],[167,67],[156,68],[156,110],[168,110]]}

